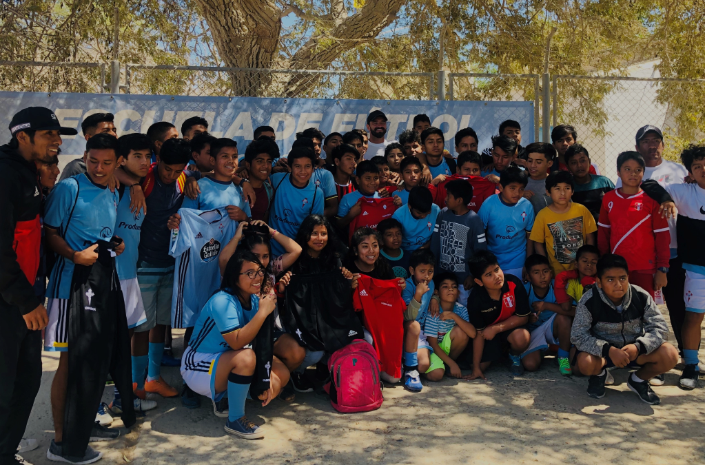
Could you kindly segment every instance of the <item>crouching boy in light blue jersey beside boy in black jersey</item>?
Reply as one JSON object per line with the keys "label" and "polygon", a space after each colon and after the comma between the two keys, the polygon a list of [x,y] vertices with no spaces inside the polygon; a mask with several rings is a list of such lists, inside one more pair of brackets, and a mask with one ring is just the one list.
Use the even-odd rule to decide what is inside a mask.
{"label": "crouching boy in light blue jersey beside boy in black jersey", "polygon": [[558,371],[569,376],[572,374],[569,359],[570,325],[575,311],[564,311],[556,303],[551,285],[553,273],[545,256],[529,255],[526,270],[529,283],[525,287],[532,314],[525,328],[531,333],[531,343],[522,354],[522,364],[527,371],[537,371],[541,366],[541,352],[548,349],[549,345],[558,345]]}

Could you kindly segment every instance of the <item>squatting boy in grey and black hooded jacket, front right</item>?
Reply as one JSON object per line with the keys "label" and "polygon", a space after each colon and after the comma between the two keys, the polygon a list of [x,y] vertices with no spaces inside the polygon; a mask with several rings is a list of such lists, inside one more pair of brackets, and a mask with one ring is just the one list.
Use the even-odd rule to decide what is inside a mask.
{"label": "squatting boy in grey and black hooded jacket, front right", "polygon": [[606,254],[599,259],[596,285],[575,309],[570,333],[575,344],[573,370],[590,376],[587,394],[601,399],[606,368],[639,368],[630,375],[627,387],[642,402],[658,405],[661,399],[651,390],[649,378],[678,363],[678,350],[666,342],[666,320],[648,293],[630,285],[629,266],[622,256]]}

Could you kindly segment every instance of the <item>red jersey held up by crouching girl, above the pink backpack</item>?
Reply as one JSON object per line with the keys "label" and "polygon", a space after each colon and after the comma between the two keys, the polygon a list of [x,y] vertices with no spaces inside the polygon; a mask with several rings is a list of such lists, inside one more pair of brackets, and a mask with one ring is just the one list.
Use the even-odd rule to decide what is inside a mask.
{"label": "red jersey held up by crouching girl, above the pink backpack", "polygon": [[406,304],[401,298],[399,281],[360,275],[353,294],[353,306],[355,311],[362,311],[362,323],[372,334],[382,371],[393,378],[401,378]]}

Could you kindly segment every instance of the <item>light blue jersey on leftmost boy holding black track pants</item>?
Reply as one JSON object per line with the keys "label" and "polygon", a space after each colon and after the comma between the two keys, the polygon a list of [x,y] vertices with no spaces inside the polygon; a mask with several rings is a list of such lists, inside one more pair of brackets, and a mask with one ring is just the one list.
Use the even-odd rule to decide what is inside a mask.
{"label": "light blue jersey on leftmost boy holding black track pants", "polygon": [[[59,231],[68,247],[80,252],[97,240],[113,237],[120,194],[93,184],[86,173],[67,178],[54,187],[44,213],[44,226]],[[68,299],[73,261],[59,256],[49,276],[47,297]]]}

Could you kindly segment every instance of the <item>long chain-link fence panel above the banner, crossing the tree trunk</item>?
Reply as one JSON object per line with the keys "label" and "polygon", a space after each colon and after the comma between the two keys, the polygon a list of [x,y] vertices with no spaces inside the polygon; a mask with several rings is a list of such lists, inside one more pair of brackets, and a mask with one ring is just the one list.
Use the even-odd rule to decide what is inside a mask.
{"label": "long chain-link fence panel above the banner, crossing the tree trunk", "polygon": [[313,99],[433,99],[434,73],[125,66],[132,94]]}

